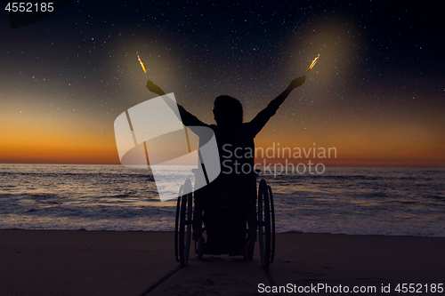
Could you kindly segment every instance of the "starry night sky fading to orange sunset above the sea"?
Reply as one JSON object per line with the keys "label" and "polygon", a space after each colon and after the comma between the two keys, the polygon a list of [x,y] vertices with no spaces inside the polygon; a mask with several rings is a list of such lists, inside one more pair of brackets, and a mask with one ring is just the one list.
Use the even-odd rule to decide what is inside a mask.
{"label": "starry night sky fading to orange sunset above the sea", "polygon": [[[442,10],[393,1],[70,1],[12,29],[0,12],[0,163],[119,164],[113,123],[157,95],[245,121],[307,76],[256,147],[336,148],[332,165],[445,165]],[[306,68],[320,54],[314,70]]]}

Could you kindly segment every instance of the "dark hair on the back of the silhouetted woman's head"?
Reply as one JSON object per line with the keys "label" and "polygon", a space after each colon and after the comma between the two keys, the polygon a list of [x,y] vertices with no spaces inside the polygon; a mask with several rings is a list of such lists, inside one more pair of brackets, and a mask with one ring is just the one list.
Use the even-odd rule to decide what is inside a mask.
{"label": "dark hair on the back of the silhouetted woman's head", "polygon": [[231,96],[223,95],[214,99],[214,120],[219,125],[243,123],[243,106]]}

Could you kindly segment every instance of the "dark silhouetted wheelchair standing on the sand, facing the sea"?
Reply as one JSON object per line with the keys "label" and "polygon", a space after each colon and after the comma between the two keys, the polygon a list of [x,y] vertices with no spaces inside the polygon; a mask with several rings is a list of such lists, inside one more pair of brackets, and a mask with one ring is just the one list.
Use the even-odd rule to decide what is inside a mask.
{"label": "dark silhouetted wheelchair standing on the sand, facing the sea", "polygon": [[[256,188],[258,174],[259,172],[252,174],[251,188],[245,190],[247,203],[244,206],[206,205],[208,196],[205,192],[203,193],[201,189],[192,191],[191,180],[185,180],[179,189],[174,224],[174,255],[182,267],[188,264],[192,238],[198,260],[203,260],[206,254],[242,255],[244,260],[253,260],[258,231],[261,264],[265,270],[269,268],[275,255],[273,195],[271,187],[265,180],[260,180],[258,189]],[[231,184],[224,185],[231,186]],[[182,192],[189,193],[182,194]],[[216,248],[209,244],[210,227],[206,225],[209,223],[205,223],[209,220],[208,217],[213,217],[214,225],[217,225],[216,229],[212,230],[212,236],[220,238],[220,241],[213,244]],[[240,222],[233,222],[234,220]],[[238,235],[232,236],[232,232]]]}

